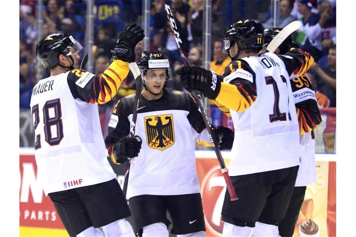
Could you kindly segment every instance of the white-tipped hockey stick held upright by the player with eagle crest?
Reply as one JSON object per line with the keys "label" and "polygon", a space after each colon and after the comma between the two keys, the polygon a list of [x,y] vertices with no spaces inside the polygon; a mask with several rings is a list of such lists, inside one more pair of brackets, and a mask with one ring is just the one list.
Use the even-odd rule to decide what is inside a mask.
{"label": "white-tipped hockey stick held upright by the player with eagle crest", "polygon": [[[141,80],[142,80],[142,78],[141,78],[140,69],[138,69],[138,66],[136,63],[129,63],[129,68],[133,74],[133,77],[135,77],[135,81],[136,81],[135,103],[133,104],[132,122],[131,122],[130,135],[129,135],[130,138],[133,138],[135,136],[138,103],[140,102],[140,95],[141,95]],[[127,192],[127,184],[129,183],[130,165],[131,165],[131,163],[129,162],[129,166],[127,166],[127,169],[125,171],[124,190],[123,190],[125,198],[126,198],[126,192]]]}

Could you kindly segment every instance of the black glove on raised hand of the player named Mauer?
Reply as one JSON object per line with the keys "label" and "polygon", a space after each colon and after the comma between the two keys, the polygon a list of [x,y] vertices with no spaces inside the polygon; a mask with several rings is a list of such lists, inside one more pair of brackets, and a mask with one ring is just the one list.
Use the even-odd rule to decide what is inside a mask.
{"label": "black glove on raised hand of the player named Mauer", "polygon": [[112,51],[112,57],[129,63],[134,62],[136,44],[143,38],[145,38],[143,29],[136,23],[130,23],[121,31],[116,46]]}

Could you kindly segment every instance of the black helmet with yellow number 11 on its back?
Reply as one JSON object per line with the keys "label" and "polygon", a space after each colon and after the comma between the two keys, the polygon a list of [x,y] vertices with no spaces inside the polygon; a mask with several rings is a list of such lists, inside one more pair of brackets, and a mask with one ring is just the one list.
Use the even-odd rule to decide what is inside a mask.
{"label": "black helmet with yellow number 11 on its back", "polygon": [[264,44],[263,26],[258,20],[239,20],[227,27],[221,44],[222,52],[229,53],[230,45],[237,43],[240,51],[256,48],[261,50]]}

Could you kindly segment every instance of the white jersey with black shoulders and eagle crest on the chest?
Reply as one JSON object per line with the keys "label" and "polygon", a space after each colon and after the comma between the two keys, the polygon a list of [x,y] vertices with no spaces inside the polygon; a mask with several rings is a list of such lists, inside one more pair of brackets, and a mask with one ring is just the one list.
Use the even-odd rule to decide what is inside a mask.
{"label": "white jersey with black shoulders and eagle crest on the chest", "polygon": [[[111,116],[105,138],[110,153],[112,145],[129,134],[134,95],[122,98]],[[126,198],[199,193],[194,140],[210,140],[193,98],[165,89],[154,101],[141,95],[138,107],[135,135],[142,146],[130,160]]]}

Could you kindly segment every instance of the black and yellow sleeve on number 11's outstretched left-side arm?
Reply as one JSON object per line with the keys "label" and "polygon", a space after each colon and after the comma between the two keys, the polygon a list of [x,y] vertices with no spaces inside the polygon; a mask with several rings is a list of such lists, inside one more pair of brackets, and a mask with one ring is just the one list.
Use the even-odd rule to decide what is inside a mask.
{"label": "black and yellow sleeve on number 11's outstretched left-side arm", "polygon": [[221,82],[221,89],[216,97],[219,108],[222,111],[232,109],[237,112],[248,109],[257,99],[255,72],[245,60],[239,59],[226,66],[223,76],[231,78],[228,83]]}

